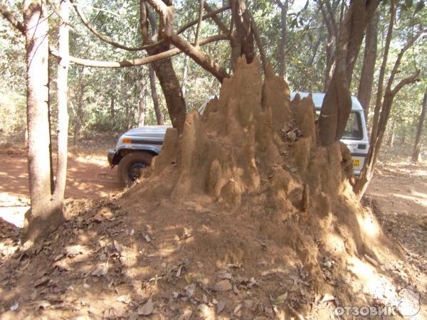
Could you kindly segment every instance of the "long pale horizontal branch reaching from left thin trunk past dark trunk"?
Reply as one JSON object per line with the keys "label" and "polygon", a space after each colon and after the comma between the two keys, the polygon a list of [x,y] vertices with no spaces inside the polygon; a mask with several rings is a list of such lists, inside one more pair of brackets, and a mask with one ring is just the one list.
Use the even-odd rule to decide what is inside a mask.
{"label": "long pale horizontal branch reaching from left thin trunk past dark trunk", "polygon": [[[219,34],[217,36],[211,36],[208,38],[200,39],[199,44],[200,46],[203,46],[205,44],[212,43],[215,41],[221,41],[221,40],[229,40],[228,34]],[[53,46],[49,48],[49,51],[51,55],[54,55],[57,58],[60,58],[58,50]],[[159,60],[171,58],[174,55],[177,55],[179,53],[181,53],[181,50],[179,48],[174,48],[162,53],[158,53],[157,55],[151,55],[149,57],[136,58],[132,60],[122,60],[122,61],[90,60],[90,59],[76,58],[70,55],[70,63],[75,63],[76,65],[84,65],[86,67],[93,67],[93,68],[125,68],[125,67],[135,67],[137,65],[147,65],[148,63],[153,63]]]}

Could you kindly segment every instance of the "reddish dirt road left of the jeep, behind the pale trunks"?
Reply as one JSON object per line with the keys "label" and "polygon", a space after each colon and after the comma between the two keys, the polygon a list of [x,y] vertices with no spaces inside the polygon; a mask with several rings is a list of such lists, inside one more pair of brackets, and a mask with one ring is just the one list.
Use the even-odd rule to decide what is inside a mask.
{"label": "reddish dirt road left of the jeep, behind the pale trunks", "polygon": [[[110,169],[106,152],[74,149],[68,154],[65,198],[92,199],[120,191],[117,169]],[[21,226],[28,206],[26,151],[0,149],[0,217]]]}

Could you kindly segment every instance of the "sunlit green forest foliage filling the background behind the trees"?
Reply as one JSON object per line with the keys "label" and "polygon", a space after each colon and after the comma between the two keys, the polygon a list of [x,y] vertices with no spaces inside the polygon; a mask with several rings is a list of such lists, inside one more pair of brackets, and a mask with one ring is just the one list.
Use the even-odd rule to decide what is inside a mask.
{"label": "sunlit green forest foliage filling the background behind the trees", "polygon": [[[322,0],[325,2],[325,0]],[[292,1],[287,16],[287,40],[285,48],[286,78],[291,90],[319,92],[322,90],[325,78],[325,43],[327,41],[327,28],[323,22],[318,1]],[[103,1],[84,0],[78,1],[86,18],[98,31],[110,36],[115,41],[126,46],[139,46],[142,38],[139,33],[139,1]],[[227,0],[209,0],[209,5],[214,9],[228,4]],[[280,63],[278,44],[280,43],[281,11],[277,1],[247,1],[251,14],[258,26],[261,39],[268,56],[268,60],[275,70]],[[342,12],[347,10],[348,1],[331,1],[337,4],[334,10],[335,19],[339,21]],[[391,44],[387,71],[393,68],[396,55],[401,46],[408,41],[418,30],[420,23],[427,21],[425,1],[398,1],[397,18],[394,31],[394,41]],[[15,12],[19,12],[16,1],[8,0],[6,4]],[[176,0],[175,28],[194,20],[199,10],[198,1]],[[344,7],[342,7],[344,5]],[[101,9],[101,10],[100,10]],[[51,9],[49,9],[51,12]],[[154,12],[152,13],[154,16]],[[19,14],[17,15],[18,17]],[[230,25],[230,14],[224,12],[220,15],[226,26]],[[75,26],[70,32],[70,53],[80,58],[93,60],[122,60],[145,56],[144,52],[127,52],[103,43],[95,37],[80,22],[75,12],[71,11],[70,21]],[[50,18],[51,43],[56,43],[56,28],[59,19],[56,14]],[[389,2],[381,1],[379,6],[379,40],[378,56],[376,61],[376,75],[378,78],[381,53],[384,49],[384,38],[389,22]],[[192,41],[195,27],[189,28],[183,36]],[[201,38],[218,34],[218,26],[211,20],[205,20],[201,28]],[[421,70],[421,82],[409,85],[397,95],[391,121],[396,123],[396,134],[410,137],[415,132],[414,123],[421,110],[423,92],[426,90],[426,37],[417,41],[402,60],[401,72],[396,76],[394,84],[405,78],[417,68]],[[203,50],[211,55],[220,65],[230,68],[230,46],[227,41],[211,43],[204,46]],[[362,48],[363,50],[363,48]],[[359,77],[362,70],[363,51],[354,68],[352,93],[357,94]],[[0,103],[1,135],[18,134],[23,137],[25,129],[25,61],[23,37],[13,31],[9,23],[0,20]],[[55,59],[51,59],[51,77],[56,76]],[[183,82],[184,55],[172,58],[176,75]],[[209,73],[189,60],[189,72],[186,78],[186,105],[188,111],[199,108],[211,95],[218,95],[218,82]],[[139,116],[139,100],[146,103],[145,124],[156,124],[151,90],[149,87],[149,73],[147,66],[119,69],[93,69],[82,68],[77,65],[70,66],[69,73],[69,113],[70,134],[80,119],[80,131],[83,134],[90,132],[106,132],[118,134],[130,127],[137,125]],[[387,78],[387,77],[386,77]],[[376,81],[376,80],[375,80]],[[376,93],[376,82],[372,88],[372,102]],[[53,116],[55,110],[55,82],[51,82]],[[157,82],[157,92],[165,122],[170,123],[166,103],[162,95],[162,88]],[[114,100],[114,111],[111,110]],[[371,110],[373,103],[371,102]],[[54,119],[54,117],[53,117]],[[55,126],[55,123],[53,123]],[[427,131],[427,130],[426,130]],[[426,132],[425,131],[425,132]],[[408,138],[409,139],[409,138]]]}

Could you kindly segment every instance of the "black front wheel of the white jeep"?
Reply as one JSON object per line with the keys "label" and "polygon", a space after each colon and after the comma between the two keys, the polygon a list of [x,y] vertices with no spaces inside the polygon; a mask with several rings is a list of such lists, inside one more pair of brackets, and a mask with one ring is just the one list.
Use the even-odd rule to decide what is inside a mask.
{"label": "black front wheel of the white jeep", "polygon": [[140,176],[139,171],[151,165],[153,155],[148,152],[126,154],[119,163],[117,174],[122,187],[132,186]]}

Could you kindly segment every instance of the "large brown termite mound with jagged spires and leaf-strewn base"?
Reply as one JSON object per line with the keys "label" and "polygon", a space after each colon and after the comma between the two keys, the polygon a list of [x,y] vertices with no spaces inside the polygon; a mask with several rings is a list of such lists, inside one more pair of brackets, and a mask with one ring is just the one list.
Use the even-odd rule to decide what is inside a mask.
{"label": "large brown termite mound with jagged spires and leaf-strewn base", "polygon": [[347,148],[317,146],[311,97],[290,102],[258,69],[239,60],[130,190],[74,203],[51,239],[7,260],[4,310],[329,319],[335,306],[396,305],[416,270],[354,198]]}

